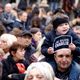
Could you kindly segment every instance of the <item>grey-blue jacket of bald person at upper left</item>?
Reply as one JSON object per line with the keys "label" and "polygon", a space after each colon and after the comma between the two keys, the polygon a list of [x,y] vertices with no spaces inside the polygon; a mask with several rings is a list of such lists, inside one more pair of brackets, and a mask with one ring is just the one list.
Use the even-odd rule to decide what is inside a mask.
{"label": "grey-blue jacket of bald person at upper left", "polygon": [[6,28],[6,31],[9,32],[12,30],[12,25],[16,19],[15,16],[12,15],[12,13],[7,13],[7,12],[3,12],[1,14],[1,21],[3,23],[3,25],[5,26]]}

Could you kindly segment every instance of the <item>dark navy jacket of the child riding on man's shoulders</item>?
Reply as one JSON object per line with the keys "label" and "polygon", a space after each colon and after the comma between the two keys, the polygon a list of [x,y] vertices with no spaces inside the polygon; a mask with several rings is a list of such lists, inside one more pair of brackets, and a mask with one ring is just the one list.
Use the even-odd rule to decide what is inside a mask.
{"label": "dark navy jacket of the child riding on man's shoulders", "polygon": [[[71,35],[73,43],[76,45],[76,50],[73,52],[73,58],[75,61],[79,62],[78,56],[80,56],[80,38],[70,29],[65,35]],[[56,34],[55,30],[52,30],[46,35],[46,39],[41,47],[41,52],[46,56],[47,61],[53,60],[53,54],[48,54],[47,50],[49,47],[53,46],[53,41],[59,35]]]}

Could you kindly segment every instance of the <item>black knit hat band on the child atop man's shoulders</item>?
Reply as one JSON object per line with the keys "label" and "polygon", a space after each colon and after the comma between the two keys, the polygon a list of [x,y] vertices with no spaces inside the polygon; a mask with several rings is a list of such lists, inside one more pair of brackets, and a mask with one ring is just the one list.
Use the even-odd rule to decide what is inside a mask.
{"label": "black knit hat band on the child atop man's shoulders", "polygon": [[52,24],[53,24],[53,28],[56,29],[60,24],[63,23],[69,23],[69,18],[67,17],[63,17],[63,18],[56,18],[55,20],[53,20]]}

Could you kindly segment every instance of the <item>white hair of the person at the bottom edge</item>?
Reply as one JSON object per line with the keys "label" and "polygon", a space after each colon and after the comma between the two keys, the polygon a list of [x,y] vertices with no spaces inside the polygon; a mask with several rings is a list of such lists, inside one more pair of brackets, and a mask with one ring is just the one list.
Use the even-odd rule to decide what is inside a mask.
{"label": "white hair of the person at the bottom edge", "polygon": [[46,80],[54,80],[53,68],[47,62],[34,62],[34,63],[30,64],[30,66],[27,68],[26,76],[25,76],[24,80],[27,80],[29,72],[34,68],[40,70],[40,72],[43,74],[43,76],[46,77]]}

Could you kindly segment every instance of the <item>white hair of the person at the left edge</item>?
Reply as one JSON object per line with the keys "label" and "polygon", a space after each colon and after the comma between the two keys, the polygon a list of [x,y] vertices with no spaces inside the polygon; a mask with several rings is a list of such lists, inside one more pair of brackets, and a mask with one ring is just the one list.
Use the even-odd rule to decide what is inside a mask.
{"label": "white hair of the person at the left edge", "polygon": [[0,39],[6,41],[8,44],[8,47],[12,46],[12,44],[17,41],[16,36],[9,33],[2,34]]}

